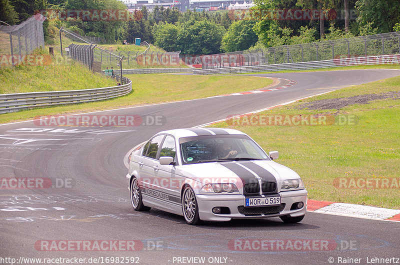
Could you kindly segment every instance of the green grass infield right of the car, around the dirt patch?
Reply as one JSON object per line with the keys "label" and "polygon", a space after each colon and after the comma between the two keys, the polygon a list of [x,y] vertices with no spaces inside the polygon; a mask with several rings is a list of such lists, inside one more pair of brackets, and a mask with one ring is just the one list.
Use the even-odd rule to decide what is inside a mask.
{"label": "green grass infield right of the car, around the dirt patch", "polygon": [[[400,100],[374,100],[340,110],[308,110],[312,100],[400,90],[400,76],[351,86],[273,108],[260,114],[354,114],[356,125],[251,126],[213,124],[248,133],[264,150],[278,150],[277,162],[295,170],[310,199],[400,209],[399,188],[336,188],[341,177],[400,178]],[[231,123],[230,123],[231,124]],[[398,183],[398,182],[397,182]]]}

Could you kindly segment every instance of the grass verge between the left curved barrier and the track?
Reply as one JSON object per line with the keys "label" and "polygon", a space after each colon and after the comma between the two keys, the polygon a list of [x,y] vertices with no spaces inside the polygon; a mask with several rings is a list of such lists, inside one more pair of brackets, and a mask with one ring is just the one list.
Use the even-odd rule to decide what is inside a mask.
{"label": "grass verge between the left curved barrier and the track", "polygon": [[[98,102],[59,105],[0,114],[0,123],[30,119],[37,115],[63,114],[147,103],[203,98],[265,87],[271,79],[254,76],[130,74],[133,91]],[[243,85],[246,84],[246,85]]]}

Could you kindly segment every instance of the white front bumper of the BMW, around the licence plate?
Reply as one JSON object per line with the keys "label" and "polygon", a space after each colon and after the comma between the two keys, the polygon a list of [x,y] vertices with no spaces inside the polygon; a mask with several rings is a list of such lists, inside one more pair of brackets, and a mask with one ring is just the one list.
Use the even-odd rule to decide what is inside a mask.
{"label": "white front bumper of the BMW, around the licence plate", "polygon": [[[228,221],[230,219],[239,218],[265,218],[275,217],[282,215],[289,215],[290,217],[296,217],[304,215],[307,210],[307,190],[291,190],[279,192],[281,196],[281,207],[276,207],[271,210],[271,213],[251,213],[243,214],[239,212],[238,207],[244,206],[244,195],[241,194],[215,194],[215,195],[204,195],[196,194],[198,213],[201,220],[204,221]],[[295,202],[302,201],[304,206],[300,209],[290,209],[291,205]],[[213,207],[229,207],[229,214],[215,214],[211,210]],[[274,207],[274,206],[264,206]],[[246,209],[251,207],[245,207]],[[276,211],[275,209],[279,209]],[[268,211],[269,209],[267,209]],[[241,210],[243,211],[243,210]]]}

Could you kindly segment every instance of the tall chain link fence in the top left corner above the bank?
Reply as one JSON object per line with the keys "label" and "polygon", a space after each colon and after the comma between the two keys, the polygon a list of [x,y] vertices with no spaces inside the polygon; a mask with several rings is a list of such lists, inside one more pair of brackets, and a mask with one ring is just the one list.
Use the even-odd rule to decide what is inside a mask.
{"label": "tall chain link fence in the top left corner above the bank", "polygon": [[38,13],[18,25],[0,25],[0,55],[7,56],[10,65],[15,65],[22,55],[30,54],[35,48],[44,47],[45,19]]}

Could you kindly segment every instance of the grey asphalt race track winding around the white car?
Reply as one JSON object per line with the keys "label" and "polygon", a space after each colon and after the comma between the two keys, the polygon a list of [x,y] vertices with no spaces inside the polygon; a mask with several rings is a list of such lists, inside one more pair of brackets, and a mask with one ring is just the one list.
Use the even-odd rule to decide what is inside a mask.
{"label": "grey asphalt race track winding around the white car", "polygon": [[[296,224],[285,224],[276,217],[190,226],[182,216],[160,210],[133,211],[123,157],[134,145],[157,131],[196,126],[232,114],[400,75],[400,71],[368,69],[253,75],[287,78],[297,83],[258,94],[93,113],[162,116],[162,125],[151,125],[151,121],[125,127],[40,127],[32,121],[1,125],[0,177],[56,178],[57,183],[49,188],[0,190],[0,256],[17,260],[21,256],[79,257],[86,258],[86,263],[90,257],[138,257],[134,262],[140,264],[324,264],[329,263],[329,257],[333,257],[333,263],[342,257],[361,258],[359,263],[366,264],[367,258],[370,262],[375,257],[400,257],[398,222],[307,212],[303,221]],[[246,91],[245,83],[243,91]],[[256,244],[251,249],[243,247],[245,242],[254,242],[249,241],[252,239],[283,240],[285,248],[264,246],[255,250]],[[72,246],[67,250],[51,248],[52,240],[139,240],[142,245],[135,241],[137,251],[113,251],[112,247],[112,251],[73,251]],[[241,240],[243,245],[234,245],[234,240]],[[287,246],[295,240],[300,240],[301,246],[305,241],[311,242],[311,249]],[[328,242],[328,248],[318,248],[321,242]],[[45,248],[45,243],[50,248]],[[391,263],[395,262],[392,259]],[[103,259],[98,263],[117,262]]]}

